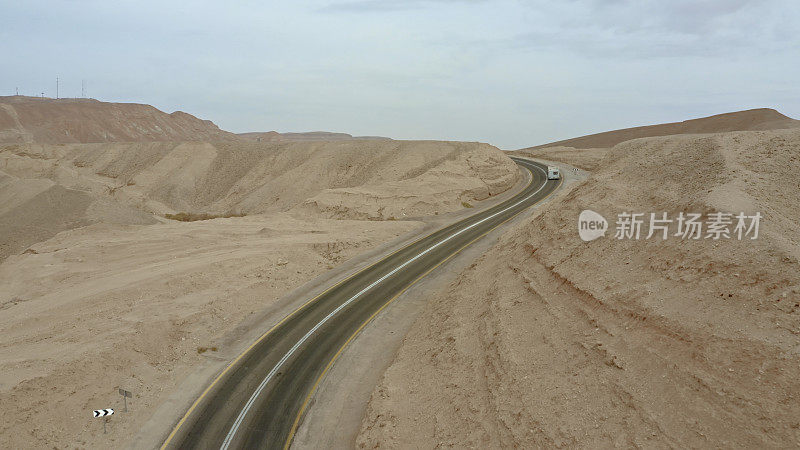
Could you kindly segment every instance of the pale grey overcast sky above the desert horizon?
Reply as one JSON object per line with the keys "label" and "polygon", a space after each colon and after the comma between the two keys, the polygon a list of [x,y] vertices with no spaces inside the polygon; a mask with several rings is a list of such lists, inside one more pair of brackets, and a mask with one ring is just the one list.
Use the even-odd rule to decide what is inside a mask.
{"label": "pale grey overcast sky above the desert horizon", "polygon": [[0,95],[234,131],[511,149],[756,107],[800,118],[797,0],[0,0]]}

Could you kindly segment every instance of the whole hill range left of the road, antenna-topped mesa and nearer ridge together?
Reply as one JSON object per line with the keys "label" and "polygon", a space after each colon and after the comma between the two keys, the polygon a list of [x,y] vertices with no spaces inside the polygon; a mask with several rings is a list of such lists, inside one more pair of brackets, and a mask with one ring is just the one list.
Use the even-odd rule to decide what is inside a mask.
{"label": "whole hill range left of the road, antenna-topped mesa and nearer ridge together", "polygon": [[149,105],[0,97],[0,259],[64,230],[166,214],[438,214],[508,189],[517,174],[484,144],[239,137]]}

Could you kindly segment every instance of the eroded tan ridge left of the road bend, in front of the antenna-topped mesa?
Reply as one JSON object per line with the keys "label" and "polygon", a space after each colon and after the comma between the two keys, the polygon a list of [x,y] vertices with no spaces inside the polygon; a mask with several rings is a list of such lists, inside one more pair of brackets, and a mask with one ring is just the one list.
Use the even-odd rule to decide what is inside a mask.
{"label": "eroded tan ridge left of the road bend, in front of the antenna-topped mesa", "polygon": [[56,233],[153,216],[295,211],[386,220],[503,192],[516,165],[478,143],[147,142],[0,145],[0,259]]}

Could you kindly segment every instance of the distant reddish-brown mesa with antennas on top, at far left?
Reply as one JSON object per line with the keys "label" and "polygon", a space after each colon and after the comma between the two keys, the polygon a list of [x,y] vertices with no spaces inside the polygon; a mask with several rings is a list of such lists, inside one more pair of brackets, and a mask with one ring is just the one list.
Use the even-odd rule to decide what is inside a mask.
{"label": "distant reddish-brown mesa with antennas on top, at far left", "polygon": [[182,111],[93,99],[0,97],[0,143],[228,141],[236,135]]}

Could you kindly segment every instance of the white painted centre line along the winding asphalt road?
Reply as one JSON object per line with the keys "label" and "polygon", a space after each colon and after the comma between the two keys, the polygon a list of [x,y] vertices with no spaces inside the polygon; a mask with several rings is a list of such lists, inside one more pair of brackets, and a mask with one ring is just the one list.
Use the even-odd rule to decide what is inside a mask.
{"label": "white painted centre line along the winding asphalt road", "polygon": [[[369,286],[367,286],[364,289],[358,291],[357,294],[355,294],[352,297],[350,297],[349,299],[347,299],[346,302],[344,302],[341,305],[339,305],[336,309],[331,311],[330,314],[325,316],[325,318],[320,320],[319,323],[314,325],[313,328],[308,330],[308,333],[306,333],[302,338],[300,338],[300,340],[297,341],[297,343],[294,344],[292,346],[292,348],[290,348],[289,351],[286,352],[285,355],[283,355],[283,357],[280,359],[280,361],[278,361],[278,364],[276,364],[275,367],[273,367],[272,370],[269,371],[269,373],[264,378],[264,380],[261,382],[261,384],[258,385],[256,390],[253,392],[253,395],[250,396],[250,399],[247,400],[247,403],[245,403],[245,405],[242,408],[242,410],[239,411],[239,415],[236,417],[236,421],[233,422],[233,425],[231,426],[230,431],[228,431],[228,435],[225,436],[225,440],[222,442],[222,445],[220,446],[220,450],[227,450],[228,449],[228,446],[230,446],[231,442],[233,441],[233,437],[236,435],[236,432],[239,430],[239,426],[242,424],[242,421],[244,420],[244,418],[247,415],[248,411],[250,411],[250,408],[252,408],[253,403],[255,403],[256,399],[261,394],[261,391],[264,390],[264,388],[267,386],[267,384],[269,384],[269,382],[272,380],[272,377],[274,377],[275,374],[278,372],[278,369],[280,369],[281,366],[283,366],[283,363],[285,363],[286,360],[288,360],[292,356],[292,354],[295,351],[297,351],[297,349],[301,345],[303,345],[303,343],[306,340],[308,340],[308,338],[311,337],[311,335],[314,334],[319,329],[319,327],[321,327],[322,325],[325,324],[325,322],[330,320],[331,317],[335,316],[339,311],[341,311],[342,309],[346,308],[350,303],[352,303],[355,299],[357,299],[358,297],[363,295],[365,292],[369,291],[373,287],[375,287],[378,284],[382,283],[384,280],[386,280],[387,278],[391,277],[392,275],[394,275],[398,271],[402,270],[404,267],[406,267],[407,265],[409,265],[412,262],[416,261],[417,259],[427,255],[428,253],[430,253],[434,249],[438,248],[440,245],[444,244],[445,242],[449,241],[450,239],[453,239],[454,237],[460,235],[461,233],[464,233],[465,231],[470,230],[470,229],[482,224],[483,222],[486,222],[487,220],[490,220],[490,219],[493,219],[494,217],[497,217],[498,215],[508,211],[509,209],[517,207],[518,205],[520,205],[523,202],[527,201],[529,198],[533,197],[534,195],[538,194],[539,191],[544,189],[544,187],[547,185],[547,181],[548,181],[547,180],[547,173],[541,167],[539,167],[537,165],[532,165],[532,166],[535,167],[536,169],[539,169],[539,171],[542,172],[544,174],[544,176],[545,176],[545,182],[539,187],[539,189],[536,190],[536,192],[534,192],[534,193],[530,194],[529,196],[523,198],[522,200],[518,201],[517,203],[514,203],[513,205],[509,206],[508,208],[505,208],[505,209],[503,209],[501,211],[498,211],[498,212],[492,214],[489,217],[485,217],[485,218],[479,220],[478,222],[475,222],[472,225],[470,225],[470,226],[468,226],[466,228],[463,228],[463,229],[451,234],[446,239],[443,239],[443,240],[437,242],[436,244],[432,245],[431,247],[428,247],[424,251],[420,252],[417,256],[415,256],[415,257],[409,259],[408,261],[404,262],[403,264],[397,266],[391,272],[389,272],[386,275],[378,278],[377,280],[375,280],[372,283],[370,283]],[[530,167],[530,166],[527,166],[527,167]]]}

